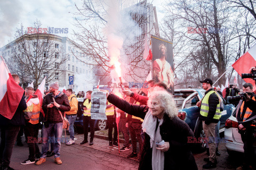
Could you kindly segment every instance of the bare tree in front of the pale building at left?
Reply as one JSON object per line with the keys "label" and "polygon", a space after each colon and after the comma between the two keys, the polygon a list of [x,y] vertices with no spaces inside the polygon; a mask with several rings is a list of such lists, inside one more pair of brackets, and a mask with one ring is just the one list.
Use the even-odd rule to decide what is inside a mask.
{"label": "bare tree in front of the pale building at left", "polygon": [[37,33],[29,35],[22,25],[17,29],[16,39],[9,44],[11,56],[7,62],[10,70],[17,73],[22,81],[34,81],[34,87],[41,83],[44,76],[46,82],[59,77],[66,67],[63,63],[67,58],[65,50],[58,44],[61,37],[58,39],[54,35],[39,33],[39,28],[41,23],[36,21]]}

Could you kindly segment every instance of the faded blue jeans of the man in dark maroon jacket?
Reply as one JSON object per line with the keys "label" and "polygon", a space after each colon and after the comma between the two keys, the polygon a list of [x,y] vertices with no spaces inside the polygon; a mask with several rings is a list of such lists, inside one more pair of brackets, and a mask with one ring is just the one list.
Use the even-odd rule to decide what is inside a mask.
{"label": "faded blue jeans of the man in dark maroon jacket", "polygon": [[[55,138],[51,138],[51,132],[54,131]],[[48,140],[50,139],[50,142],[55,142],[54,145],[54,158],[60,157],[60,143],[61,143],[61,134],[62,134],[62,122],[59,123],[49,123],[49,127],[45,128],[43,125],[42,129],[43,138],[42,138],[42,154],[41,158],[45,158],[47,155],[47,149],[48,149]]]}

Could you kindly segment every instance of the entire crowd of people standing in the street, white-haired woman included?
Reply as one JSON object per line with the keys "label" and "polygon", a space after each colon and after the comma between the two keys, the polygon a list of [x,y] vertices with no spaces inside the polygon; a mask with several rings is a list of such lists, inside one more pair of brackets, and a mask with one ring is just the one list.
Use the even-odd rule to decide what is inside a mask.
{"label": "entire crowd of people standing in the street, white-haired woman included", "polygon": [[[17,74],[12,74],[15,82],[19,84]],[[222,94],[212,87],[211,79],[200,81],[202,88],[206,90],[205,96],[196,104],[200,109],[199,121],[202,121],[203,130],[207,139],[208,158],[204,158],[206,164],[203,168],[217,167],[216,156],[218,151],[219,125],[221,111],[223,111]],[[230,87],[231,88],[231,87]],[[236,95],[238,90],[232,87],[227,89],[228,95]],[[250,83],[243,85],[243,92],[252,92]],[[124,135],[124,145],[120,151],[130,150],[127,157],[137,157],[137,142],[140,148],[139,169],[197,169],[195,158],[191,152],[195,143],[188,142],[188,138],[194,138],[193,131],[185,121],[178,116],[173,96],[167,91],[164,82],[148,81],[148,95],[140,94],[138,86],[131,89],[125,87],[114,89],[107,93],[107,124],[109,147],[118,146],[116,116],[120,115],[119,129]],[[66,145],[73,145],[74,122],[79,112],[77,98],[84,98],[83,126],[84,140],[80,145],[88,143],[88,128],[90,125],[90,142],[93,145],[94,121],[91,118],[92,91],[78,92],[75,95],[72,89],[66,92],[59,91],[58,82],[50,84],[49,90],[45,91],[43,103],[39,102],[38,96],[34,95],[34,89],[27,87],[13,118],[8,120],[0,115],[1,144],[0,161],[1,169],[13,169],[10,165],[12,150],[17,139],[20,127],[24,126],[24,133],[29,147],[28,159],[21,162],[22,165],[41,165],[46,162],[46,157],[54,155],[54,162],[62,164],[60,159],[60,146],[62,125],[65,117],[69,122],[69,137]],[[244,143],[244,164],[237,169],[249,169],[254,167],[253,143],[255,141],[253,117],[256,115],[255,95],[244,95],[237,104],[236,117],[238,129]],[[42,110],[41,110],[42,108]],[[43,115],[43,116],[42,116]],[[39,121],[43,121],[42,149],[38,147]],[[114,137],[113,137],[114,128]],[[65,131],[66,132],[66,131]],[[131,137],[131,145],[129,141]],[[217,140],[215,140],[217,139]],[[49,147],[50,145],[50,147]],[[51,149],[50,149],[51,148]]]}

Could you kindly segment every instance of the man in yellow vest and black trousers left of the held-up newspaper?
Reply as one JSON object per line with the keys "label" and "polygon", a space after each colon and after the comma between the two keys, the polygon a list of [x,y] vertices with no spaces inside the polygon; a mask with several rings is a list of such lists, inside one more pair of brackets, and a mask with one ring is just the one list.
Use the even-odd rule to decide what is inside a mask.
{"label": "man in yellow vest and black trousers left of the held-up newspaper", "polygon": [[91,95],[92,91],[86,91],[86,100],[84,101],[84,116],[83,116],[83,126],[84,126],[84,140],[80,143],[80,145],[84,145],[84,143],[88,142],[88,128],[90,124],[90,145],[93,145],[93,138],[94,138],[94,122],[95,120],[91,119]]}

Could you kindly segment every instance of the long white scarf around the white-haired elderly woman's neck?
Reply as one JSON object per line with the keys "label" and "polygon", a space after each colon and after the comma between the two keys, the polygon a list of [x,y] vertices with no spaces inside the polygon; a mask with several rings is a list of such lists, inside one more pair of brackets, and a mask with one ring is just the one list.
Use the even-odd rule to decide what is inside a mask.
{"label": "long white scarf around the white-haired elderly woman's neck", "polygon": [[161,142],[162,137],[160,134],[160,125],[163,123],[163,118],[159,122],[156,130],[157,117],[151,114],[151,109],[149,109],[146,114],[144,121],[142,123],[142,129],[150,137],[150,148],[153,148],[152,151],[152,169],[153,170],[162,170],[164,169],[164,152],[157,150],[156,142]]}

